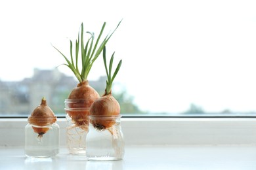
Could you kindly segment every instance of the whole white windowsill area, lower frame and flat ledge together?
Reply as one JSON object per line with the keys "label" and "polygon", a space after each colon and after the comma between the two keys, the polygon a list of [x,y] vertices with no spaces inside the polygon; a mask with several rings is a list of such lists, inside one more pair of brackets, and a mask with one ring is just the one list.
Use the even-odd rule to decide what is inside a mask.
{"label": "whole white windowsill area, lower frame and flat ledge together", "polygon": [[66,148],[59,118],[60,153],[26,158],[26,118],[0,119],[0,169],[256,169],[256,118],[121,118],[125,157],[87,161]]}

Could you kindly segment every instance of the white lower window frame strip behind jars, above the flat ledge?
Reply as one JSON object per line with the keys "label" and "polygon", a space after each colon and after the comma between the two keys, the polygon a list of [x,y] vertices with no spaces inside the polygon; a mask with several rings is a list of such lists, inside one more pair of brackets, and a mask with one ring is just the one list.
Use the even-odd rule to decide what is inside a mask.
{"label": "white lower window frame strip behind jars, above the flat ledge", "polygon": [[[125,145],[217,145],[256,143],[256,118],[121,118]],[[58,118],[66,146],[65,118]],[[0,119],[0,146],[24,146],[26,118]],[[7,135],[8,134],[8,135]]]}

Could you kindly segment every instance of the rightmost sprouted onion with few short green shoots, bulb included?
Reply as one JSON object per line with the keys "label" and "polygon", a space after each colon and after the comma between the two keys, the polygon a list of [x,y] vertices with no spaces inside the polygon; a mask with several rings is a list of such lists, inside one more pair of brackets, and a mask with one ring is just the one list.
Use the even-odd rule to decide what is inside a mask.
{"label": "rightmost sprouted onion with few short green shoots, bulb included", "polygon": [[95,116],[95,118],[91,120],[91,123],[93,124],[93,126],[100,131],[108,129],[110,133],[112,133],[112,131],[110,130],[110,127],[112,127],[116,123],[115,118],[113,118],[112,116],[118,116],[120,113],[120,105],[118,101],[112,96],[112,83],[121,67],[122,60],[119,61],[116,67],[116,71],[112,76],[111,71],[112,71],[112,65],[114,60],[114,54],[115,53],[112,54],[109,67],[107,67],[106,47],[104,47],[103,59],[104,59],[104,65],[105,65],[106,75],[107,75],[106,89],[102,97],[100,97],[99,99],[96,99],[93,105],[91,105],[91,109],[90,109],[90,115]]}

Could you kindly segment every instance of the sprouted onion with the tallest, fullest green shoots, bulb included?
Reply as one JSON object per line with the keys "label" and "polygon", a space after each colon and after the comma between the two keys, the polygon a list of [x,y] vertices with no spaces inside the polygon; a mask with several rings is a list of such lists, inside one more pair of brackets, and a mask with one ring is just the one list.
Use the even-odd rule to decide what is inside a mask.
{"label": "sprouted onion with the tallest, fullest green shoots, bulb included", "polygon": [[[119,24],[120,23],[121,23],[121,21],[119,22]],[[119,24],[117,25],[117,27],[119,26]],[[91,67],[93,66],[93,63],[98,58],[98,56],[102,52],[104,46],[106,45],[106,43],[108,42],[110,37],[113,35],[113,33],[117,29],[117,27],[116,27],[116,29],[114,29],[114,31],[110,35],[109,34],[106,35],[104,40],[101,42],[100,46],[98,46],[98,43],[99,43],[100,37],[102,36],[102,33],[104,31],[105,25],[106,25],[106,22],[104,22],[104,24],[102,25],[100,34],[98,35],[96,42],[95,42],[95,34],[93,32],[87,31],[86,33],[88,33],[90,35],[90,37],[89,37],[88,41],[86,43],[84,43],[83,23],[81,24],[81,34],[80,34],[80,32],[78,33],[78,38],[75,41],[75,59],[73,57],[73,52],[72,52],[73,43],[71,40],[70,40],[71,60],[66,58],[66,56],[64,56],[64,54],[62,54],[62,52],[60,52],[60,50],[58,50],[57,48],[55,48],[53,46],[66,59],[67,63],[63,64],[63,65],[68,66],[74,73],[77,80],[79,81],[77,86],[72,90],[72,92],[68,96],[68,99],[78,99],[78,100],[81,99],[81,100],[79,100],[79,103],[80,103],[79,107],[81,107],[81,105],[82,105],[83,108],[88,108],[88,109],[80,110],[80,111],[68,110],[66,112],[72,118],[72,120],[75,122],[76,126],[79,126],[82,128],[85,127],[85,130],[86,130],[85,125],[88,126],[88,124],[89,124],[88,118],[87,118],[89,115],[89,108],[91,107],[91,104],[95,101],[95,99],[98,99],[100,97],[98,92],[96,92],[96,90],[89,85],[87,76],[89,75],[89,72],[91,71]],[[81,52],[79,52],[79,46],[81,47]],[[81,54],[81,71],[79,71],[79,68],[78,68],[78,54],[79,53]],[[68,107],[70,109],[77,108],[77,106],[73,105],[72,103]]]}

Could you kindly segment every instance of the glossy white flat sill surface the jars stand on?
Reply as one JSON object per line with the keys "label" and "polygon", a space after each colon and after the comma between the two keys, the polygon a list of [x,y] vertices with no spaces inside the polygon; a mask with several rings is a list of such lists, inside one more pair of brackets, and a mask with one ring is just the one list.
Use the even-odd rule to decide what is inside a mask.
{"label": "glossy white flat sill surface the jars stand on", "polygon": [[[22,147],[1,148],[3,169],[256,169],[256,146],[126,146],[121,161],[87,161],[68,154],[26,158]],[[1,169],[0,168],[0,169]]]}

